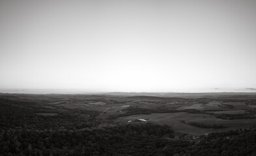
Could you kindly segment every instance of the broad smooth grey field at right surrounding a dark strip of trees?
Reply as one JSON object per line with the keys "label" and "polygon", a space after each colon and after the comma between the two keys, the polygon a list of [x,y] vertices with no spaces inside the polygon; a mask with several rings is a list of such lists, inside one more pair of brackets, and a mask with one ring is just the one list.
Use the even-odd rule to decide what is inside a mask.
{"label": "broad smooth grey field at right surrounding a dark strip of trees", "polygon": [[[252,125],[256,125],[256,119],[238,119],[223,120],[208,114],[192,114],[187,112],[173,113],[152,113],[152,114],[136,114],[132,116],[124,116],[119,120],[128,122],[129,120],[144,119],[147,122],[160,123],[163,125],[171,125],[172,129],[181,133],[189,133],[193,135],[203,135],[212,132],[229,131],[231,129],[244,129]],[[223,125],[224,129],[202,128],[189,125],[190,122],[203,123],[205,125]]]}

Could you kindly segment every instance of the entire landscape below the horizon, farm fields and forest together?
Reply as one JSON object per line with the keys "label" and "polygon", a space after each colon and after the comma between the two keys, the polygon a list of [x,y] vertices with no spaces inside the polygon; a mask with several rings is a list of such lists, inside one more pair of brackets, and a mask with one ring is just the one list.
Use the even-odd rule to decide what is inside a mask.
{"label": "entire landscape below the horizon, farm fields and forest together", "polygon": [[255,155],[255,96],[207,97],[0,94],[0,155]]}

